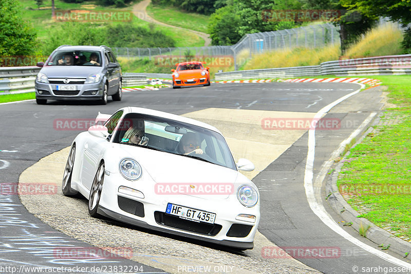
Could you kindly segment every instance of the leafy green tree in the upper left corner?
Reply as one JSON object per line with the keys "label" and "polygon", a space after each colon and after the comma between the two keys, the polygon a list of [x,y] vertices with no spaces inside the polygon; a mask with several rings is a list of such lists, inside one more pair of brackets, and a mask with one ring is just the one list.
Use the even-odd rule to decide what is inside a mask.
{"label": "leafy green tree in the upper left corner", "polygon": [[0,1],[0,56],[32,54],[36,46],[35,30],[23,20],[16,0]]}

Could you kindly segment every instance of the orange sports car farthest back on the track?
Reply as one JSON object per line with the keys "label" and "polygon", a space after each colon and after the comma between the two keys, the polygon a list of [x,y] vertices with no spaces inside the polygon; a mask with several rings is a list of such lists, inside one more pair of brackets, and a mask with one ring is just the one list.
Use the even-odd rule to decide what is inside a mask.
{"label": "orange sports car farthest back on the track", "polygon": [[210,85],[209,67],[204,67],[205,62],[182,62],[176,64],[177,68],[173,71],[173,88],[180,88],[180,86],[197,86]]}

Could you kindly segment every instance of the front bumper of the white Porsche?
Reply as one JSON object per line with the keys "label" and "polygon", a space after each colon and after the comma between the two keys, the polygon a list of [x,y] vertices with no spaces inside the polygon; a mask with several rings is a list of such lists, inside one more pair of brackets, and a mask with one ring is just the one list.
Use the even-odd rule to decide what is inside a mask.
{"label": "front bumper of the white Porsche", "polygon": [[[157,195],[147,190],[147,188],[145,190],[140,188],[139,185],[145,185],[143,181],[128,181],[119,173],[110,173],[109,176],[105,176],[104,180],[98,211],[102,215],[125,223],[219,245],[240,249],[253,248],[254,236],[260,219],[259,205],[246,208],[238,202],[236,195],[232,195],[227,199],[210,200],[181,194]],[[144,198],[120,193],[118,191],[120,186],[139,190],[143,192]],[[119,197],[123,200],[124,198],[127,199],[124,202],[127,204],[127,211],[124,210],[125,204],[121,204]],[[182,220],[177,216],[165,214],[167,203],[216,213],[214,225]],[[136,206],[137,204],[139,204],[140,209]],[[135,211],[134,207],[136,207]],[[128,210],[129,208],[132,209]],[[236,220],[239,214],[254,215],[256,217],[255,222],[251,223]],[[164,219],[168,218],[169,223],[162,222],[162,217],[164,217]],[[171,221],[170,218],[172,218]],[[170,222],[173,222],[173,224]],[[234,224],[235,226],[233,227]],[[188,226],[195,227],[197,231],[191,230],[190,228],[187,229]],[[213,228],[213,226],[216,228]],[[238,230],[243,227],[245,228],[245,232]],[[233,234],[234,230],[236,231]],[[216,231],[216,233],[212,233],[212,231]],[[236,233],[242,234],[240,236]]]}

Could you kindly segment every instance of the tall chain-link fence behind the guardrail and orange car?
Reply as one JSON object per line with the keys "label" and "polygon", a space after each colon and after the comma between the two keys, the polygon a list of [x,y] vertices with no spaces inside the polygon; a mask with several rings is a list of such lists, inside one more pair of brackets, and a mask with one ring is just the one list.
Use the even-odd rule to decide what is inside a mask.
{"label": "tall chain-link fence behind the guardrail and orange car", "polygon": [[[266,51],[294,48],[294,47],[323,47],[328,44],[340,43],[339,28],[327,23],[311,25],[293,29],[258,32],[246,34],[237,44],[232,46],[209,47],[175,47],[175,48],[114,48],[117,56],[155,59],[159,63],[174,64],[186,59],[208,61],[207,63],[227,66],[227,58],[231,58],[234,69],[244,62],[244,58],[251,58],[252,54]],[[214,58],[212,61],[208,58]],[[218,59],[215,59],[218,58]],[[214,61],[217,60],[217,61]]]}

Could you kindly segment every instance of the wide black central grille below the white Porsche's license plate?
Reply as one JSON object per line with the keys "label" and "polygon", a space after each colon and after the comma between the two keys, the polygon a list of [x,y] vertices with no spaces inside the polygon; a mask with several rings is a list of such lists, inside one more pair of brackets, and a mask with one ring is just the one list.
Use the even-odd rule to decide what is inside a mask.
{"label": "wide black central grille below the white Porsche's license plate", "polygon": [[198,234],[215,236],[220,232],[222,226],[217,224],[197,223],[189,220],[184,220],[178,216],[171,216],[164,212],[154,212],[156,223],[163,226],[177,228],[185,231],[190,231]]}

